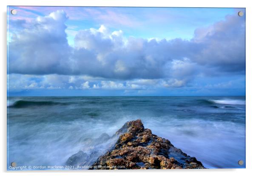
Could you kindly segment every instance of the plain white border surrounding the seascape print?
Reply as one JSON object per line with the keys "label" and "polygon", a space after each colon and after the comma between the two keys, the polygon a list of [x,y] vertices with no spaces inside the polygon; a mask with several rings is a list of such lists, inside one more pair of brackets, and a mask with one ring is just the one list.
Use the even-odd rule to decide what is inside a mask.
{"label": "plain white border surrounding the seascape print", "polygon": [[[255,21],[256,6],[253,1],[245,0],[1,0],[1,158],[0,172],[2,175],[21,175],[21,176],[66,176],[66,175],[111,175],[111,176],[128,176],[134,174],[146,175],[196,175],[196,176],[216,176],[216,175],[253,175],[256,173],[256,162],[254,161],[256,150],[256,113],[253,111],[256,106],[256,55],[255,55]],[[6,171],[6,6],[7,5],[54,5],[54,6],[148,6],[148,7],[238,7],[246,8],[246,169],[209,169],[209,170],[103,170],[103,171]]]}

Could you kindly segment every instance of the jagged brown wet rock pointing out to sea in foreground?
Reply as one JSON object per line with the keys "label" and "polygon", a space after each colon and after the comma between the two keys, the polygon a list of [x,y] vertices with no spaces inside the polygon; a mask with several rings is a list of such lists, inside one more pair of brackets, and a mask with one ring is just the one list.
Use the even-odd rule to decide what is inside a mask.
{"label": "jagged brown wet rock pointing out to sea in foreground", "polygon": [[141,120],[128,121],[116,132],[114,148],[99,157],[93,169],[182,169],[205,168],[171,142],[153,135]]}

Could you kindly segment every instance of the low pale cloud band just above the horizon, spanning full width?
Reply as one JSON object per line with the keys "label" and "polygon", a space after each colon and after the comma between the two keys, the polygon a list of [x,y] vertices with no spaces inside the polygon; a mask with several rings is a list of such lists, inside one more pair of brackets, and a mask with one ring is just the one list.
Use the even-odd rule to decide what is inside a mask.
{"label": "low pale cloud band just above the horizon, spanning full width", "polygon": [[[44,92],[68,90],[66,95],[76,95],[72,92],[88,93],[88,95],[102,92],[102,95],[110,95],[111,92],[119,92],[120,95],[165,95],[165,93],[175,95],[187,93],[191,95],[191,90],[198,93],[212,93],[212,95],[223,95],[228,90],[237,90],[244,93],[245,76],[231,77],[212,77],[196,79],[193,84],[179,79],[134,79],[134,80],[106,80],[103,78],[88,76],[69,76],[69,75],[27,75],[9,74],[8,92]],[[179,91],[180,90],[180,91]],[[104,94],[104,92],[108,92]],[[176,92],[176,93],[175,93]],[[189,93],[190,92],[190,93]],[[174,93],[174,94],[172,94]],[[216,93],[216,94],[214,94]],[[80,95],[81,95],[80,94]],[[38,94],[36,94],[38,95]],[[200,95],[200,94],[199,94]],[[204,94],[205,95],[205,94]]]}

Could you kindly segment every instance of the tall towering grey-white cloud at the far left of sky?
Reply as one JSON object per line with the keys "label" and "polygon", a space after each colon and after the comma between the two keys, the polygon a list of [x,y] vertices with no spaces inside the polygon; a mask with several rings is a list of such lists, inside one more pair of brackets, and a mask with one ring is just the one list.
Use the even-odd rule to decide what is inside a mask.
{"label": "tall towering grey-white cloud at the far left of sky", "polygon": [[71,47],[67,42],[64,11],[55,11],[12,33],[9,72],[20,74],[65,74],[71,71]]}

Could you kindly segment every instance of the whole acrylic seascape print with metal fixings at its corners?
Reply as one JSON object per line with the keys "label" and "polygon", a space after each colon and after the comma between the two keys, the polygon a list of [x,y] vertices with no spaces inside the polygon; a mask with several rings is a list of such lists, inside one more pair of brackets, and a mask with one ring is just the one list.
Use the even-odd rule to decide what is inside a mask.
{"label": "whole acrylic seascape print with metal fixings at its corners", "polygon": [[245,168],[245,8],[7,13],[7,170]]}

